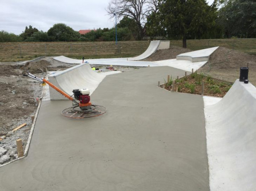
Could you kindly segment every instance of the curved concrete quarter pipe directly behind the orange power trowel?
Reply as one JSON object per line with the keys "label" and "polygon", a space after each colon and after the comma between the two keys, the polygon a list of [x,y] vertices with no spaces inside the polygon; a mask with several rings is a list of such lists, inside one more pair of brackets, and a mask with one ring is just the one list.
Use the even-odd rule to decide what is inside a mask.
{"label": "curved concrete quarter pipe directly behind the orange power trowel", "polygon": [[[48,78],[52,84],[67,94],[73,95],[72,90],[82,88],[89,89],[90,94],[92,94],[105,76],[92,71],[89,63],[84,63],[67,70],[53,73]],[[51,87],[49,88],[49,92],[52,100],[66,99]]]}

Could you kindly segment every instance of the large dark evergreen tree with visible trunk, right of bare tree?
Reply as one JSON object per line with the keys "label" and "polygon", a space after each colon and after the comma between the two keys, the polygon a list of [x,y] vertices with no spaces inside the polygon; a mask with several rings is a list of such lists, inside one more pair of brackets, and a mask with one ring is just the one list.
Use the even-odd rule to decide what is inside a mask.
{"label": "large dark evergreen tree with visible trunk, right of bare tree", "polygon": [[182,38],[183,48],[187,39],[200,39],[215,24],[216,1],[209,6],[205,0],[159,0],[158,6],[149,22],[160,25],[169,38]]}

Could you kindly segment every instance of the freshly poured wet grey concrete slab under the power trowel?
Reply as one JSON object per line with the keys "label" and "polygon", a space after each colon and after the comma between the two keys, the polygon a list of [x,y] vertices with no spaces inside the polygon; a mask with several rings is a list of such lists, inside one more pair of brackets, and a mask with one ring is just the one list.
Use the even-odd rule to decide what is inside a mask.
{"label": "freshly poured wet grey concrete slab under the power trowel", "polygon": [[209,190],[201,96],[156,87],[172,67],[106,78],[92,103],[108,111],[72,120],[71,101],[43,101],[28,157],[0,168],[0,190]]}

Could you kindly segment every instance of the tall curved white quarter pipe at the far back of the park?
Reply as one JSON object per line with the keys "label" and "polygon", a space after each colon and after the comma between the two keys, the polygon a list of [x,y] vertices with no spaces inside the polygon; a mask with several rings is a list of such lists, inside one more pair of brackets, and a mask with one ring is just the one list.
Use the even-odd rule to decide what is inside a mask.
{"label": "tall curved white quarter pipe at the far back of the park", "polygon": [[157,50],[161,49],[168,49],[170,48],[170,41],[163,41],[163,40],[153,40],[150,42],[149,47],[147,50],[142,53],[139,56],[133,57],[133,58],[128,58],[127,60],[142,60],[147,57],[149,57],[151,54],[155,53]]}

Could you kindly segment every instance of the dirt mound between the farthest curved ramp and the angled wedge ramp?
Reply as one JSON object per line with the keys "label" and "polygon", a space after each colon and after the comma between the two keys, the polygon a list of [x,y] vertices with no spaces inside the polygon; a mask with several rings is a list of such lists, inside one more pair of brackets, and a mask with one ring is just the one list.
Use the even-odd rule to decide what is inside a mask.
{"label": "dirt mound between the farthest curved ramp and the angled wedge ramp", "polygon": [[175,59],[177,55],[191,52],[190,49],[181,48],[178,46],[170,46],[169,49],[158,50],[153,53],[150,57],[143,59],[141,61],[158,61],[158,60],[168,60],[168,59]]}

